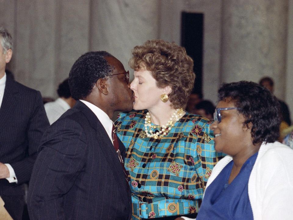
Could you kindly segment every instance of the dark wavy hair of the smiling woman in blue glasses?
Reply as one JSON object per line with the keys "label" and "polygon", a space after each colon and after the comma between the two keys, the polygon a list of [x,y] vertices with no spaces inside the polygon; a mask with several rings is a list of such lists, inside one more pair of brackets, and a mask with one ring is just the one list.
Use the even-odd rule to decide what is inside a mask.
{"label": "dark wavy hair of the smiling woman in blue glasses", "polygon": [[255,82],[224,83],[219,89],[219,101],[231,99],[235,107],[252,124],[253,144],[274,142],[279,137],[280,107],[277,98],[269,90]]}

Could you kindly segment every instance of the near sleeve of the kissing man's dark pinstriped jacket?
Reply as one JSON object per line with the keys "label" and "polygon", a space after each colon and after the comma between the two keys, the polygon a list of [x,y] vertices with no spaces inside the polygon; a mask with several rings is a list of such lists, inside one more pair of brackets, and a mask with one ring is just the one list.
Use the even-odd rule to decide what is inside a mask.
{"label": "near sleeve of the kissing man's dark pinstriped jacket", "polygon": [[87,141],[79,123],[57,120],[45,132],[27,196],[30,218],[64,219],[63,195],[84,170]]}

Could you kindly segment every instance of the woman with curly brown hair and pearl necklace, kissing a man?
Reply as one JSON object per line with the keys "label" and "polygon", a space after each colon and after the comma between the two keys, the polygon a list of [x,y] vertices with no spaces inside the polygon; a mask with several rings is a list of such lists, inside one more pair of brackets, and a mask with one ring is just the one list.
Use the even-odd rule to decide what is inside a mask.
{"label": "woman with curly brown hair and pearl necklace, kissing a man", "polygon": [[194,86],[193,60],[183,47],[148,40],[129,65],[133,112],[115,123],[126,147],[132,219],[195,217],[214,165],[210,120],[183,110]]}

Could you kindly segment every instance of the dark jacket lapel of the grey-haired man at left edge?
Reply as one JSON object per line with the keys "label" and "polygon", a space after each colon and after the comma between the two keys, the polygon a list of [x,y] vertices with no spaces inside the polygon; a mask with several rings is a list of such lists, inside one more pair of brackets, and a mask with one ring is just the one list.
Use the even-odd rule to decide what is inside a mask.
{"label": "dark jacket lapel of the grey-haired man at left edge", "polygon": [[4,95],[0,108],[0,127],[2,127],[3,123],[6,123],[6,121],[9,120],[11,112],[13,112],[13,109],[16,105],[18,93],[19,92],[17,90],[15,81],[6,76]]}

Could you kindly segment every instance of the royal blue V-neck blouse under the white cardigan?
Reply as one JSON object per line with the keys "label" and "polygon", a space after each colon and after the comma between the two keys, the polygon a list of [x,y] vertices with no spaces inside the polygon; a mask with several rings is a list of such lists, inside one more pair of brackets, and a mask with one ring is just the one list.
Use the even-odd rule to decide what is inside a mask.
{"label": "royal blue V-neck blouse under the white cardigan", "polygon": [[233,160],[224,167],[205,191],[197,220],[208,219],[253,219],[248,196],[248,180],[257,153],[252,155],[241,167],[237,177],[228,184]]}

